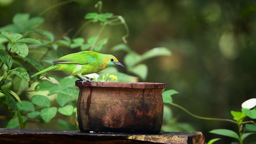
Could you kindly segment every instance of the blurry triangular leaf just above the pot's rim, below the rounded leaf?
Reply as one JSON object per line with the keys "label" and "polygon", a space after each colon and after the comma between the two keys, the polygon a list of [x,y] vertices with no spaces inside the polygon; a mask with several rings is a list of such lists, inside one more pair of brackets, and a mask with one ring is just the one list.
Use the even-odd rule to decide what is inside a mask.
{"label": "blurry triangular leaf just above the pot's rim, below the rounded leaf", "polygon": [[142,80],[146,80],[148,76],[148,67],[146,64],[138,64],[128,69],[129,72],[132,72],[139,76]]}

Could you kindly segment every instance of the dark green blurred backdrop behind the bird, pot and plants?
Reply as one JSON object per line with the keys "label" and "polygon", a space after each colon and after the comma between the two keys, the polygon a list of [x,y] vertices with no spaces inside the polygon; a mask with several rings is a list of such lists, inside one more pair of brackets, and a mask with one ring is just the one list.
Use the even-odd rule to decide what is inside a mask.
{"label": "dark green blurred backdrop behind the bird, pot and plants", "polygon": [[[64,0],[0,0],[0,27],[12,23],[16,13],[38,16]],[[38,26],[52,32],[56,39],[72,37],[88,20],[89,12],[98,12],[98,0],[77,0],[42,15]],[[232,119],[230,111],[241,111],[245,100],[256,97],[256,1],[253,0],[102,0],[102,12],[122,16],[128,25],[128,46],[143,54],[155,47],[166,47],[172,56],[151,58],[145,82],[166,83],[166,90],[179,92],[173,102],[204,117]],[[100,30],[100,24],[88,24],[78,37],[89,38]],[[102,53],[114,54],[122,63],[125,52],[110,48],[123,43],[123,25],[107,26],[102,37],[108,43]],[[80,49],[58,49],[64,54]],[[120,69],[120,72],[126,72]],[[129,73],[128,73],[129,74]],[[142,81],[142,80],[139,80]],[[206,142],[234,140],[210,130],[225,128],[238,132],[236,124],[193,118],[174,106],[170,117],[174,125],[165,131],[201,131]],[[1,110],[2,111],[2,110]],[[166,124],[166,122],[164,123]],[[182,125],[176,128],[177,125]],[[4,128],[5,124],[0,124]],[[50,128],[50,127],[49,127]],[[251,138],[253,136],[250,136]],[[245,142],[246,143],[246,142]]]}

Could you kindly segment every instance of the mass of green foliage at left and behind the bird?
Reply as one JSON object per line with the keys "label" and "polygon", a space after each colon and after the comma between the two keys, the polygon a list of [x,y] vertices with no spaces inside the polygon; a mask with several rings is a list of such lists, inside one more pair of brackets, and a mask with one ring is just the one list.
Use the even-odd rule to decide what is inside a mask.
{"label": "mass of green foliage at left and behind the bird", "polygon": [[[60,5],[60,4],[59,4]],[[58,5],[58,6],[59,6]],[[107,25],[123,24],[126,28],[128,36],[128,28],[122,16],[115,16],[112,13],[101,13],[101,3],[99,5],[99,13],[88,13],[85,19],[88,23],[102,23],[102,27],[96,36],[92,36],[85,40],[84,38],[76,37],[84,26],[74,34],[73,38],[63,36],[56,40],[52,32],[46,30],[35,29],[44,21],[42,17],[32,17],[30,14],[16,14],[13,18],[13,24],[9,24],[0,28],[0,97],[5,97],[1,100],[6,103],[12,119],[8,122],[7,128],[16,128],[20,126],[24,128],[29,120],[37,122],[50,122],[53,118],[59,118],[59,128],[62,130],[77,129],[77,122],[68,122],[61,118],[76,119],[76,104],[78,97],[78,88],[74,86],[74,77],[37,76],[30,79],[30,75],[35,73],[35,69],[40,71],[44,69],[44,64],[49,64],[52,60],[63,56],[59,51],[62,48],[80,50],[100,51],[108,42],[109,38],[100,39],[100,34]],[[44,12],[43,12],[44,13]],[[120,45],[118,45],[120,47]],[[113,50],[117,51],[117,47]],[[145,64],[140,62],[152,58],[154,56],[170,55],[170,51],[166,48],[154,48],[145,52],[142,56],[136,54],[124,45],[128,51],[125,58],[128,72],[133,72],[132,68],[137,70],[145,70],[145,73],[138,74],[133,72],[144,80],[147,76],[147,68]],[[128,63],[131,56],[137,56],[133,60],[134,64]],[[27,65],[29,63],[29,66]],[[118,72],[115,68],[109,68],[101,72],[99,75],[87,75],[95,81],[116,81],[130,82],[137,81],[135,76]],[[27,95],[28,94],[28,95]],[[4,100],[4,101],[3,101]],[[64,116],[64,117],[63,117]]]}

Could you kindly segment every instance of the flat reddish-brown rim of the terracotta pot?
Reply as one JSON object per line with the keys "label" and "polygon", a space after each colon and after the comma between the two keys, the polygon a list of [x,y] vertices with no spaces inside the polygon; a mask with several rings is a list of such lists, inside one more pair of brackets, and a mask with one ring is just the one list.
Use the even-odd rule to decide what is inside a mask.
{"label": "flat reddish-brown rim of the terracotta pot", "polygon": [[154,83],[154,82],[85,82],[82,84],[81,81],[76,81],[78,87],[115,87],[115,88],[166,88],[165,83]]}

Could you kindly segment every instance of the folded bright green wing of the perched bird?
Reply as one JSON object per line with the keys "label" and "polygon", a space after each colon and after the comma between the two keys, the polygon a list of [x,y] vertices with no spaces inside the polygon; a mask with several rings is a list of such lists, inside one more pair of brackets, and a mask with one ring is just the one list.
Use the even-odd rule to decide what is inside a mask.
{"label": "folded bright green wing of the perched bird", "polygon": [[58,60],[54,60],[52,64],[90,64],[96,62],[98,55],[91,51],[82,51],[74,54],[62,56]]}

